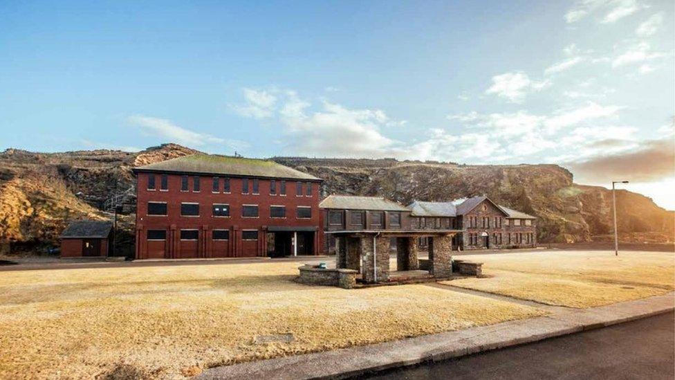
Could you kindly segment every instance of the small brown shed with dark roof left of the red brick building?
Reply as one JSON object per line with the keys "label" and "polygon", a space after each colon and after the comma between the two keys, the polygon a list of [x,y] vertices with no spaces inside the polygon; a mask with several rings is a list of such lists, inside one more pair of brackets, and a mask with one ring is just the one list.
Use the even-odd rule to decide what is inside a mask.
{"label": "small brown shed with dark roof left of the red brick building", "polygon": [[73,221],[61,234],[61,257],[105,257],[113,231],[111,221]]}

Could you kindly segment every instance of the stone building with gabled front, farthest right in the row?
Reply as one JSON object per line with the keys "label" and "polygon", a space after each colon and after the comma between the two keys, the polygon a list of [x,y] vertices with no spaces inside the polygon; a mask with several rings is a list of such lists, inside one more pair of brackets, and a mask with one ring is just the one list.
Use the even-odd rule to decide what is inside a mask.
{"label": "stone building with gabled front, farthest right in the row", "polygon": [[[453,239],[453,248],[526,248],[537,245],[536,217],[494,203],[488,197],[451,202],[414,201],[412,224],[426,228],[450,226],[462,230]],[[420,242],[422,247],[425,242]]]}

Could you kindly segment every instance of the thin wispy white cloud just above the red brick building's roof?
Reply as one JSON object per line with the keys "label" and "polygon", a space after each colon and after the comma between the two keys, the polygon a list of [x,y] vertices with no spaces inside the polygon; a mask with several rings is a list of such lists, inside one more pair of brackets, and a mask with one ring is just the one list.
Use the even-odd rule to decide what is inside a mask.
{"label": "thin wispy white cloud just above the red brick building's roof", "polygon": [[150,116],[130,116],[129,122],[140,127],[144,132],[151,136],[161,136],[167,138],[172,143],[187,145],[190,147],[198,147],[208,144],[223,144],[234,149],[241,149],[247,147],[248,143],[236,140],[225,140],[211,136],[210,134],[203,134],[194,132],[183,127],[175,125],[170,120],[163,118],[154,118]]}

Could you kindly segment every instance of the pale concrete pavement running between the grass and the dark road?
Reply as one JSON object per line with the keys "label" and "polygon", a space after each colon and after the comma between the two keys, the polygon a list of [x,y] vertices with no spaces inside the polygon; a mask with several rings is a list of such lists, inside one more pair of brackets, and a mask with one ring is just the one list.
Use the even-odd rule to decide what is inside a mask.
{"label": "pale concrete pavement running between the grass and the dark road", "polygon": [[556,309],[551,311],[549,316],[473,327],[456,332],[211,368],[200,377],[202,379],[351,377],[403,365],[442,361],[541,341],[663,314],[674,309],[675,293],[670,292],[664,296],[589,309]]}

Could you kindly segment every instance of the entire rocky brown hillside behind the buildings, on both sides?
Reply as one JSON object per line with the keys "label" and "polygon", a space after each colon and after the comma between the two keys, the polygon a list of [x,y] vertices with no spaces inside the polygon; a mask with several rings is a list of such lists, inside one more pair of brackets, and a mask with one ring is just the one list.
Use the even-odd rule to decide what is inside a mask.
{"label": "entire rocky brown hillside behind the buildings, on both sides", "polygon": [[[111,195],[133,186],[131,168],[185,156],[196,150],[175,144],[137,153],[92,150],[0,153],[0,249],[30,250],[57,244],[70,219],[110,218],[101,210]],[[366,194],[402,203],[443,201],[487,194],[499,203],[539,217],[546,242],[605,240],[611,231],[611,192],[573,183],[557,165],[458,165],[394,159],[307,159],[275,161],[326,180],[326,194]],[[133,202],[133,197],[129,199]],[[640,194],[617,192],[622,239],[672,241],[673,212]],[[133,242],[133,215],[120,218]],[[128,247],[127,247],[128,248]]]}

